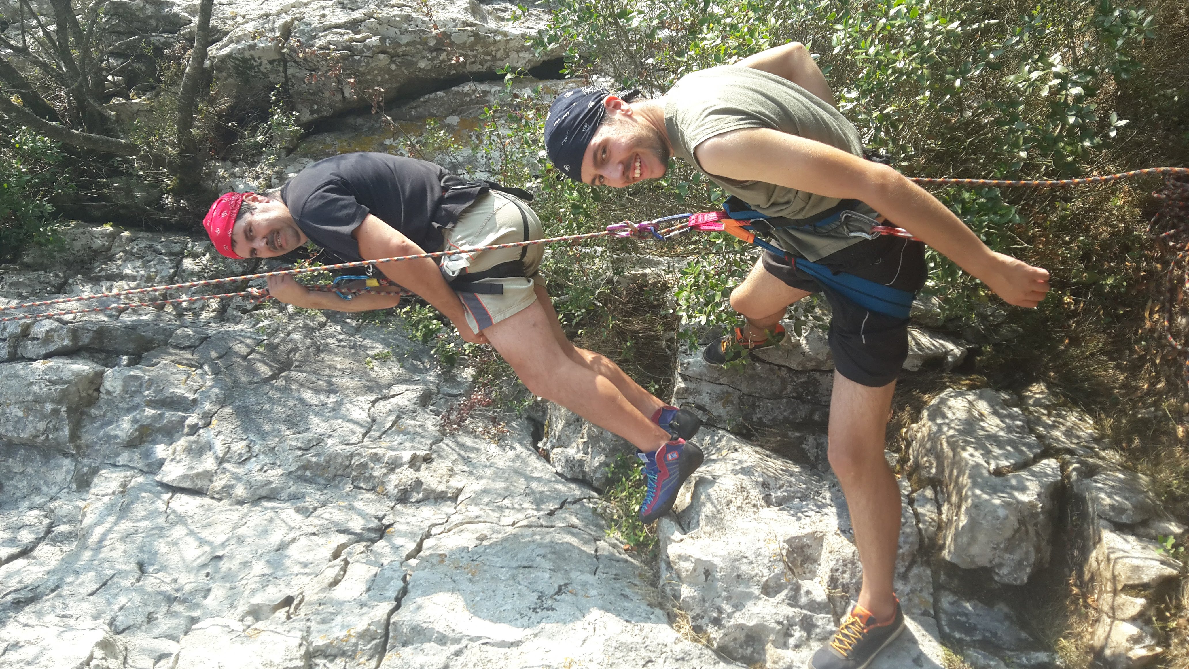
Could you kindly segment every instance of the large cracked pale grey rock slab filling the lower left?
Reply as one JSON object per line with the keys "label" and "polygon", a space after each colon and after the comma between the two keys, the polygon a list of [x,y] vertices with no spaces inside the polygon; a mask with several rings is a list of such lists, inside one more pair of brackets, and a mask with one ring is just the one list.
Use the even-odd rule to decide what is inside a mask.
{"label": "large cracked pale grey rock slab filling the lower left", "polygon": [[[237,271],[206,242],[65,237],[69,264],[2,268],[5,304]],[[527,420],[447,433],[465,374],[392,331],[235,300],[0,351],[5,667],[725,665]]]}

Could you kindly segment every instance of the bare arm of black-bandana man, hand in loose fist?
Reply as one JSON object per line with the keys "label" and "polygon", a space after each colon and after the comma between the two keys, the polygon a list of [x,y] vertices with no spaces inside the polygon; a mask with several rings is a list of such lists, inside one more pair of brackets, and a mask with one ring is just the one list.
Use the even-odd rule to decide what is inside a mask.
{"label": "bare arm of black-bandana man, hand in loose fist", "polygon": [[1049,290],[1048,270],[992,251],[936,198],[887,165],[768,129],[712,137],[694,149],[694,157],[715,175],[867,202],[982,280],[1008,304],[1034,307]]}

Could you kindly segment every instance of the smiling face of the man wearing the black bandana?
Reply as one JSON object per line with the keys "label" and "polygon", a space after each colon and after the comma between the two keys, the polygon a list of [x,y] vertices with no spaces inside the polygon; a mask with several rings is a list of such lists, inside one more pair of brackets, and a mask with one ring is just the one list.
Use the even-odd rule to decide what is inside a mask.
{"label": "smiling face of the man wearing the black bandana", "polygon": [[583,181],[623,188],[665,176],[668,160],[669,149],[659,130],[630,111],[609,108],[583,155]]}

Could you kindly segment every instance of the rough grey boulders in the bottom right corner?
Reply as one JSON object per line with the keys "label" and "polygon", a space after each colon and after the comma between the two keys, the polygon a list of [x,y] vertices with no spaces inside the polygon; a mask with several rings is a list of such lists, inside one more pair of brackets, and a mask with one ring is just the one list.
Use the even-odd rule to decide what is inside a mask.
{"label": "rough grey boulders in the bottom right corner", "polygon": [[[910,438],[913,473],[943,500],[942,557],[1021,584],[1052,539],[1065,536],[1067,562],[1093,595],[1099,665],[1139,668],[1162,652],[1152,601],[1176,582],[1179,564],[1155,539],[1183,537],[1185,526],[1163,518],[1151,482],[1115,463],[1084,412],[1061,405],[1043,384],[1019,398],[946,390]],[[1052,523],[1061,495],[1065,526]],[[961,579],[946,574],[943,587],[961,590]],[[976,669],[1051,664],[1001,602],[988,607],[943,589],[937,612],[943,636]]]}

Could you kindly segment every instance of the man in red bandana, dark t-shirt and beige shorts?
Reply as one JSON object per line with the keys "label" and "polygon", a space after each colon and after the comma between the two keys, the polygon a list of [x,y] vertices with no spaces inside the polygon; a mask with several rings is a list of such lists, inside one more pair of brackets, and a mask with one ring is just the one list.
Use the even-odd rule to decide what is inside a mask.
{"label": "man in red bandana, dark t-shirt and beige shorts", "polygon": [[[307,242],[356,262],[540,239],[536,214],[508,190],[515,189],[468,182],[424,161],[345,154],[307,167],[278,193],[224,194],[203,226],[231,258],[276,257]],[[530,245],[447,256],[440,267],[430,258],[375,267],[446,315],[463,339],[495,346],[535,395],[623,437],[648,458],[698,452],[685,443],[700,425],[697,417],[570,343],[537,273],[542,254],[543,246]],[[348,300],[308,290],[288,275],[269,277],[269,293],[303,308],[346,312],[394,307],[401,299],[369,293]],[[652,521],[671,506],[672,495],[652,495],[641,517]]]}

